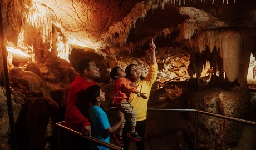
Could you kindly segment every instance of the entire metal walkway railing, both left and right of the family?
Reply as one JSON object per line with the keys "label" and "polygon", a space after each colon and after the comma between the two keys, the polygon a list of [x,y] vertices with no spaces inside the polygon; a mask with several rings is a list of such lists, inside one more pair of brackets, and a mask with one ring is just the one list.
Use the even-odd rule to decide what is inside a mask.
{"label": "entire metal walkway railing, both left and right of the family", "polygon": [[[116,109],[116,107],[109,107],[109,108],[105,108],[104,111],[109,111],[111,109]],[[205,112],[205,111],[200,111],[200,110],[197,110],[197,109],[158,109],[158,108],[147,108],[148,111],[173,111],[173,112],[193,112],[195,113],[195,137],[194,137],[194,149],[196,150],[196,140],[197,140],[197,134],[198,134],[198,114],[205,114],[207,116],[213,116],[213,117],[217,117],[217,118],[223,118],[223,119],[228,119],[230,121],[235,121],[235,122],[240,122],[240,123],[244,123],[244,124],[250,124],[250,125],[253,125],[253,126],[256,126],[256,123],[255,122],[252,122],[252,121],[247,121],[247,120],[244,120],[244,119],[238,119],[238,118],[234,118],[234,117],[229,117],[229,116],[224,116],[224,115],[221,115],[221,114],[216,114],[216,113],[210,113],[210,112]],[[77,136],[81,136],[81,133],[80,132],[77,132],[77,131],[74,131],[70,128],[67,128],[65,127],[63,124],[64,124],[65,121],[62,121],[62,122],[58,122],[56,123],[56,126],[59,127],[59,128],[62,128],[62,129],[65,129],[66,131],[69,131],[69,132],[72,132],[72,133],[75,133],[77,134]],[[61,147],[60,146],[60,131],[58,130],[58,136],[59,136],[59,148]],[[103,142],[101,141],[100,139],[97,139],[97,138],[93,138],[93,137],[88,137],[88,136],[81,136],[82,138],[86,138],[88,139],[89,141],[91,142],[95,142],[97,144],[100,144],[102,146],[105,146],[107,148],[110,148],[110,149],[122,149],[121,147],[118,147],[114,144],[110,144],[110,143],[106,143],[106,142]]]}

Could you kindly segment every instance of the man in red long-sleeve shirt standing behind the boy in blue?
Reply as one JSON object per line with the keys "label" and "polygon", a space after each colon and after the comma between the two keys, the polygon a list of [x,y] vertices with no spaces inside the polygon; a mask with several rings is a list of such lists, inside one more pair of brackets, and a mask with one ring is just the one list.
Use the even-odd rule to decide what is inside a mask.
{"label": "man in red long-sleeve shirt standing behind the boy in blue", "polygon": [[[68,89],[65,126],[77,132],[81,132],[82,136],[91,136],[91,124],[88,121],[88,116],[83,116],[77,108],[78,92],[85,90],[95,82],[93,79],[99,78],[99,68],[92,59],[82,59],[79,63],[80,75],[71,83]],[[85,99],[88,101],[88,99]],[[91,103],[88,101],[88,108]]]}

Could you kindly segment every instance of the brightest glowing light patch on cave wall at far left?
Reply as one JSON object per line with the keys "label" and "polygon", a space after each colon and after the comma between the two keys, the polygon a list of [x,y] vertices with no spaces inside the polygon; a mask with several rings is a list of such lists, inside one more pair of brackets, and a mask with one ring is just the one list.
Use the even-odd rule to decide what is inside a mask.
{"label": "brightest glowing light patch on cave wall at far left", "polygon": [[28,62],[29,55],[22,52],[19,49],[13,47],[6,47],[7,51],[12,54],[13,59],[17,59],[18,62]]}

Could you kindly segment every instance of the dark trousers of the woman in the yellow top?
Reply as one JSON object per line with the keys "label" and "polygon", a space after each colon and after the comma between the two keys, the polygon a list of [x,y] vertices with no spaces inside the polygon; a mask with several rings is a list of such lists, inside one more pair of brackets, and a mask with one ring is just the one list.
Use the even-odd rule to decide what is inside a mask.
{"label": "dark trousers of the woman in the yellow top", "polygon": [[[136,129],[137,133],[139,134],[139,136],[142,137],[142,139],[140,141],[136,141],[137,150],[144,150],[145,149],[144,135],[145,135],[146,125],[147,125],[146,120],[137,121],[137,125],[136,125],[135,129]],[[124,150],[129,149],[129,144],[130,144],[131,139],[129,137],[127,137],[127,132],[129,132],[130,130],[131,130],[130,122],[126,121],[124,131],[122,132],[122,134],[124,136],[123,137],[124,138],[124,143],[125,143],[125,145],[122,146],[122,148],[124,148]]]}

